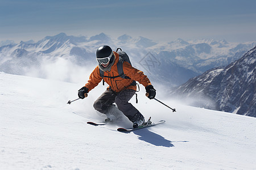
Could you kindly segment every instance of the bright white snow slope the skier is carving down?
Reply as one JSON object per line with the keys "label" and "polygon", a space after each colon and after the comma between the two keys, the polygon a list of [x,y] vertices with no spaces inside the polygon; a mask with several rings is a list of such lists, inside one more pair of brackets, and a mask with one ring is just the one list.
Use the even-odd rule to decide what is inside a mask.
{"label": "bright white snow slope the skier is carving down", "polygon": [[125,117],[86,124],[104,119],[92,107],[106,88],[99,85],[68,105],[83,84],[0,72],[1,169],[256,169],[256,118],[163,100],[172,113],[141,90],[134,105],[166,123],[120,133],[131,126]]}

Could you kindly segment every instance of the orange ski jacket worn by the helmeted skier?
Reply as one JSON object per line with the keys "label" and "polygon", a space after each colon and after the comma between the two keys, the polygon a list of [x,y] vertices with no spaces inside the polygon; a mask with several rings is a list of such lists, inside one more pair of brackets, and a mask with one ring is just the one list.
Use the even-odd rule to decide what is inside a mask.
{"label": "orange ski jacket worn by the helmeted skier", "polygon": [[[118,76],[118,70],[117,70],[117,62],[119,61],[119,55],[118,53],[114,53],[115,61],[113,66],[111,67],[110,71],[105,71],[104,76]],[[147,78],[146,75],[144,75],[143,71],[140,71],[138,69],[135,69],[133,66],[130,65],[129,62],[123,62],[123,73],[126,76],[129,76],[130,79],[123,79],[120,76],[116,78],[107,78],[104,77],[104,81],[109,84],[108,90],[113,90],[114,92],[120,92],[125,89],[132,89],[137,90],[137,86],[131,86],[131,83],[133,81],[137,81],[141,83],[144,87],[147,87],[148,85],[151,85],[150,80]],[[97,66],[93,72],[89,76],[88,83],[85,84],[85,87],[88,88],[88,90],[92,90],[94,87],[98,85],[102,80],[102,77],[100,76],[100,68]]]}

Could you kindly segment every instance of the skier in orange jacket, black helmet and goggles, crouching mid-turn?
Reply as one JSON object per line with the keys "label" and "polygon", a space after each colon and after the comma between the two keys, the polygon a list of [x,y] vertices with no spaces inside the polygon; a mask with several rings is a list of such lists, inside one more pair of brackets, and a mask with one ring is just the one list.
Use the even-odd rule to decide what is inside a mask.
{"label": "skier in orange jacket, black helmet and goggles, crouching mid-turn", "polygon": [[[149,99],[154,99],[156,90],[147,76],[144,75],[142,71],[132,67],[127,61],[122,63],[123,73],[126,76],[125,78],[122,78],[118,73],[117,66],[117,63],[120,62],[119,54],[113,52],[110,46],[100,46],[96,51],[96,57],[98,66],[90,74],[88,83],[78,91],[79,98],[84,99],[88,92],[101,82],[102,76],[100,70],[101,72],[104,71],[103,79],[109,84],[109,87],[96,101],[94,101],[94,109],[106,114],[107,118],[105,121],[113,121],[115,117],[112,113],[121,111],[131,122],[133,122],[133,128],[138,128],[144,123],[144,117],[141,112],[128,102],[137,90],[135,81],[143,84]],[[117,107],[115,107],[113,103],[115,103]]]}

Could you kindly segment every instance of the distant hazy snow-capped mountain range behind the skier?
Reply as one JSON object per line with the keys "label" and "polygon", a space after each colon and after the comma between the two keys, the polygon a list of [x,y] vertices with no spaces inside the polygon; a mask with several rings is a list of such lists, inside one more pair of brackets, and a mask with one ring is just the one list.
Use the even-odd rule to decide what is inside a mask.
{"label": "distant hazy snow-capped mountain range behind the skier", "polygon": [[[0,43],[1,44],[1,43]],[[179,86],[188,79],[217,66],[226,66],[241,58],[256,42],[230,43],[225,40],[154,42],[145,37],[119,36],[113,39],[104,33],[92,37],[67,36],[60,33],[46,36],[38,42],[2,42],[0,71],[24,75],[32,70],[44,70],[47,61],[65,59],[77,66],[96,65],[95,52],[100,45],[120,47],[130,57],[134,67],[150,76],[152,82]]]}

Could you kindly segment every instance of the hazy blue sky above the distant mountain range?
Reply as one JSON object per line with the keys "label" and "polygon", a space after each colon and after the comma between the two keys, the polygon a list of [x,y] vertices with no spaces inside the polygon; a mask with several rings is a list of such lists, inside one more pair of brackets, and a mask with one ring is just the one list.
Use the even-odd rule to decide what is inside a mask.
{"label": "hazy blue sky above the distant mountain range", "polygon": [[0,41],[36,41],[60,32],[256,41],[255,7],[255,0],[0,0]]}

